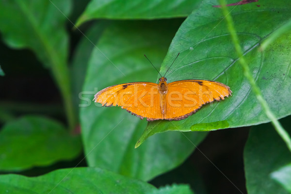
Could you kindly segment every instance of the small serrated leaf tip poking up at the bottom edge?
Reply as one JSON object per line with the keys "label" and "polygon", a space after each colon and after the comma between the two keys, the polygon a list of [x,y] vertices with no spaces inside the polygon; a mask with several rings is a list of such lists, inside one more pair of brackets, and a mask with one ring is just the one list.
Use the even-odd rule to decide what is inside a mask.
{"label": "small serrated leaf tip poking up at the bottom edge", "polygon": [[176,185],[173,184],[171,186],[165,186],[159,188],[159,190],[153,190],[148,192],[147,194],[194,194],[191,191],[189,185]]}

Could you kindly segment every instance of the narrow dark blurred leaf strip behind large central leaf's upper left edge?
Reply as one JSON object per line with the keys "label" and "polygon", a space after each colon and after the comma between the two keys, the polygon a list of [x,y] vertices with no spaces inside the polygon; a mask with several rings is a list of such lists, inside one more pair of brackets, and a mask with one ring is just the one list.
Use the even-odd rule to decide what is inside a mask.
{"label": "narrow dark blurred leaf strip behind large central leaf's upper left edge", "polygon": [[88,62],[92,54],[92,50],[96,47],[98,39],[100,38],[103,30],[106,28],[107,23],[99,21],[93,25],[82,36],[75,53],[73,54],[71,64],[71,77],[74,106],[78,109],[82,86],[85,80],[85,75],[88,67]]}

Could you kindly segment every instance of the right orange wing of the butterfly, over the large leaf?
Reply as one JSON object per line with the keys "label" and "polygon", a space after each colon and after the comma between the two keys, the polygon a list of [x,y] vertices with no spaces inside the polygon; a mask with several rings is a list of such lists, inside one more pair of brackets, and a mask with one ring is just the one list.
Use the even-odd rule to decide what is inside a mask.
{"label": "right orange wing of the butterfly, over the large leaf", "polygon": [[183,80],[168,84],[167,120],[181,120],[195,113],[203,104],[231,95],[228,86],[205,80]]}

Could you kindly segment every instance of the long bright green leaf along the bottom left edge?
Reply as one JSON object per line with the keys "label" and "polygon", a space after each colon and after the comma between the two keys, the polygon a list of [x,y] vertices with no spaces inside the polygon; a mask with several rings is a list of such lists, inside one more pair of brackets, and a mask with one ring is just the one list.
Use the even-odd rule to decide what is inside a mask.
{"label": "long bright green leaf along the bottom left edge", "polygon": [[0,193],[12,194],[146,194],[154,186],[100,168],[68,168],[28,178],[1,175]]}

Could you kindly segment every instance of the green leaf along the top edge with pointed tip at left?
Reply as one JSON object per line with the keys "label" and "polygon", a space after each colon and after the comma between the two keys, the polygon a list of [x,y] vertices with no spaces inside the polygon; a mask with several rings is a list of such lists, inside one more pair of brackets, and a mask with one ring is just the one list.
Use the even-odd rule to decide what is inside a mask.
{"label": "green leaf along the top edge with pointed tip at left", "polygon": [[76,25],[98,18],[157,19],[188,16],[198,0],[91,0]]}

